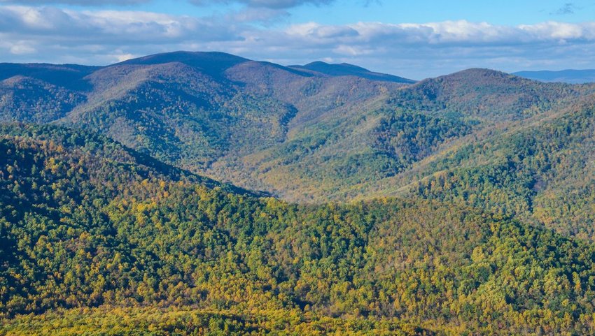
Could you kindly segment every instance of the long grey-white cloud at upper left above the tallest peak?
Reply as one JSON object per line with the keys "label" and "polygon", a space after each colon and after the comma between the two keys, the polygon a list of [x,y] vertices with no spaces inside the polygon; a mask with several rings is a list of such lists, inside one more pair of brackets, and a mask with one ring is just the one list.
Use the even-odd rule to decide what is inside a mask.
{"label": "long grey-white cloud at upper left above the tallest peak", "polygon": [[61,43],[175,43],[237,38],[225,24],[187,16],[139,11],[75,11],[51,7],[0,6],[0,31],[46,36]]}

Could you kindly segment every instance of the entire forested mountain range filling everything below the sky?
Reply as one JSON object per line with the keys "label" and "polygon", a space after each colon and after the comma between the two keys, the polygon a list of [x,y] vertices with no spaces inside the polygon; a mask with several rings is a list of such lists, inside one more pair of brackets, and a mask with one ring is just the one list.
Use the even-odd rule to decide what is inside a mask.
{"label": "entire forested mountain range filling everything below the sky", "polygon": [[591,333],[594,106],[482,68],[0,64],[0,333]]}

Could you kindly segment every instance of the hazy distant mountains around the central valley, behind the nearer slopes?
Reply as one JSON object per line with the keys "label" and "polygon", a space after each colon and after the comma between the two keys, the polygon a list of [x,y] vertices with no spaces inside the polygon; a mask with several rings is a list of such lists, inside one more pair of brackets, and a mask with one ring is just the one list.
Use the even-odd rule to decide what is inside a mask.
{"label": "hazy distant mountains around the central valley, behind the nearer slopes", "polygon": [[300,203],[392,195],[435,173],[412,178],[424,162],[556,117],[595,90],[486,69],[412,84],[349,64],[285,67],[221,52],[3,67],[2,121],[96,131]]}

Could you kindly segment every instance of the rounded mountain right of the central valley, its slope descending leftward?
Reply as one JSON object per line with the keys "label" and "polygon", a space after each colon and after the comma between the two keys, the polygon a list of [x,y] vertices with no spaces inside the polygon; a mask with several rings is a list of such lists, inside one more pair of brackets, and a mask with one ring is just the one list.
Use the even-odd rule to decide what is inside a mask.
{"label": "rounded mountain right of the central valley, its slope descending leftward", "polygon": [[[351,98],[366,86],[353,87],[357,89],[347,95]],[[407,87],[378,86],[380,94],[374,98],[321,112],[291,129],[280,145],[245,156],[236,169],[251,175],[244,173],[234,181],[290,200],[382,196],[384,191],[374,192],[370,186],[381,181],[386,189],[402,187],[391,181],[400,180],[419,161],[556,115],[593,89],[482,69]]]}

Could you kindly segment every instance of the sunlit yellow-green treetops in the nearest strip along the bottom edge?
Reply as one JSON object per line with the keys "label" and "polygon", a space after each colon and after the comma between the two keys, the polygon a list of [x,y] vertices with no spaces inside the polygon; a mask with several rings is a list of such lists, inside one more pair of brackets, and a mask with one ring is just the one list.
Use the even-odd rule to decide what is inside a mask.
{"label": "sunlit yellow-green treetops in the nearest strip along the bottom edge", "polygon": [[[48,325],[48,321],[52,324]],[[8,335],[347,335],[430,336],[434,333],[395,319],[337,319],[300,310],[210,312],[191,308],[118,308],[66,310],[5,321]],[[102,328],[97,328],[102,326]]]}

